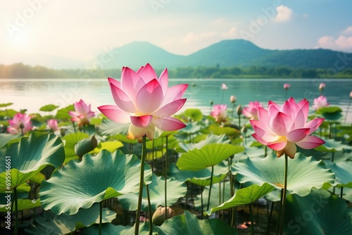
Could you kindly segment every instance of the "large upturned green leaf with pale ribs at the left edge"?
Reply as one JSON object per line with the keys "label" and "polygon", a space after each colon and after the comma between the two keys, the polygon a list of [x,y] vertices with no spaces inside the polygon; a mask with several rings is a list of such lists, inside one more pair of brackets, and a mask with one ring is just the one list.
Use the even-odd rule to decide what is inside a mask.
{"label": "large upturned green leaf with pale ribs at the left edge", "polygon": [[0,159],[3,159],[0,161],[0,188],[6,188],[7,166],[11,166],[11,188],[15,188],[34,177],[46,165],[60,167],[65,153],[63,142],[55,134],[32,132],[19,142],[0,148]]}

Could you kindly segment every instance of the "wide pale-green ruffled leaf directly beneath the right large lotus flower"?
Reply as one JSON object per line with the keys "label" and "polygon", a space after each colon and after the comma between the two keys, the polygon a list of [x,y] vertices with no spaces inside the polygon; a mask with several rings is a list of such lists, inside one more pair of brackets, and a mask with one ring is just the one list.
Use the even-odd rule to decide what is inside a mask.
{"label": "wide pale-green ruffled leaf directly beneath the right large lotus flower", "polygon": [[[334,173],[321,160],[296,153],[288,162],[287,190],[290,193],[306,196],[313,187],[320,189],[325,182],[334,184]],[[266,158],[241,159],[232,165],[232,174],[237,174],[238,181],[246,185],[268,183],[282,189],[284,156],[277,158],[275,153],[270,153]]]}

